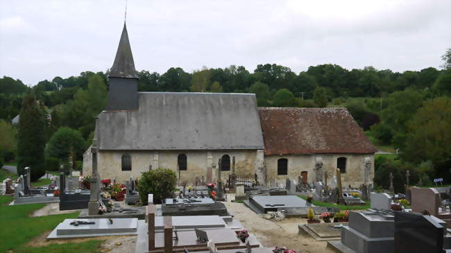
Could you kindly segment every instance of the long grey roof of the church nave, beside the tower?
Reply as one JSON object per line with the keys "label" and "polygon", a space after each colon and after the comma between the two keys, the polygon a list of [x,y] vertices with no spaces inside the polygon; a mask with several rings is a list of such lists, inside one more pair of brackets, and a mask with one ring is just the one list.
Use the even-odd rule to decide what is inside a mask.
{"label": "long grey roof of the church nave, beside the tower", "polygon": [[138,95],[139,110],[99,114],[100,150],[264,148],[255,94]]}

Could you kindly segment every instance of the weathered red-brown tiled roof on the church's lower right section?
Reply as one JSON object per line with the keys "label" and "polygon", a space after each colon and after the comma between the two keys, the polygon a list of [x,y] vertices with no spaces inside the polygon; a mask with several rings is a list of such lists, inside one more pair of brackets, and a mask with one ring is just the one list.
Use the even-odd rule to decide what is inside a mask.
{"label": "weathered red-brown tiled roof on the church's lower right section", "polygon": [[265,155],[377,150],[345,108],[259,107]]}

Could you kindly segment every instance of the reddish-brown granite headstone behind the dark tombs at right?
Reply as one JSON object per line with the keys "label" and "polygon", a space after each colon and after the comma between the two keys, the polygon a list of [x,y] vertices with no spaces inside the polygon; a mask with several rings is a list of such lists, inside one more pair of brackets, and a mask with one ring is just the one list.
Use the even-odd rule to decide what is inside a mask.
{"label": "reddish-brown granite headstone behind the dark tombs at right", "polygon": [[412,211],[421,213],[424,210],[429,211],[432,216],[439,215],[440,193],[434,188],[411,188],[411,207]]}

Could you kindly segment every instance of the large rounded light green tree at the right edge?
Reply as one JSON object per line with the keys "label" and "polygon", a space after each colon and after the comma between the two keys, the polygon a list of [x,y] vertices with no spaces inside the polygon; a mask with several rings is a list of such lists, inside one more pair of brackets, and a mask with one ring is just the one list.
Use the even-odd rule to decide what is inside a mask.
{"label": "large rounded light green tree at the right edge", "polygon": [[411,162],[431,161],[439,173],[451,164],[451,98],[442,96],[426,101],[408,125],[402,157]]}

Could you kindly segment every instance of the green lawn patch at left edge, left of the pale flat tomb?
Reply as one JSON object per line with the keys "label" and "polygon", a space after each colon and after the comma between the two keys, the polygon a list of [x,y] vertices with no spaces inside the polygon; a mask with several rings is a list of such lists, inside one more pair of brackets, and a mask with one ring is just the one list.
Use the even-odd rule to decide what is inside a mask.
{"label": "green lawn patch at left edge, left of the pale flat tomb", "polygon": [[[2,198],[3,201],[3,198]],[[79,212],[57,214],[51,216],[29,217],[45,204],[19,204],[13,206],[0,206],[0,252],[16,250],[35,236],[54,229],[62,220],[77,218]]]}

